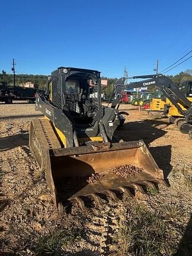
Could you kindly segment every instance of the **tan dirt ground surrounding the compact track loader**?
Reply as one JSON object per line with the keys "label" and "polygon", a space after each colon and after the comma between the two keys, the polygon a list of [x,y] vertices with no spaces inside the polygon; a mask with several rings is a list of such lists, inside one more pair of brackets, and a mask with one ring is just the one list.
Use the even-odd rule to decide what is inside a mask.
{"label": "tan dirt ground surrounding the compact track loader", "polygon": [[[161,185],[157,193],[146,195],[138,192],[133,199],[108,200],[103,210],[82,212],[74,207],[61,218],[28,146],[30,120],[41,113],[34,104],[0,104],[0,255],[192,255],[192,140],[167,119],[131,105],[120,105],[120,110],[129,116],[114,141],[143,139],[170,187]],[[146,212],[138,212],[140,206]],[[130,212],[132,207],[135,212]],[[144,250],[138,252],[130,244],[143,212],[145,218],[150,213],[153,219],[157,216],[155,221],[161,220],[159,230],[165,227],[167,232],[161,237],[165,244],[172,242],[166,246],[170,250],[148,251],[144,241]],[[127,223],[132,225],[130,233]],[[139,230],[140,235],[148,229]],[[160,236],[154,237],[152,245]]]}

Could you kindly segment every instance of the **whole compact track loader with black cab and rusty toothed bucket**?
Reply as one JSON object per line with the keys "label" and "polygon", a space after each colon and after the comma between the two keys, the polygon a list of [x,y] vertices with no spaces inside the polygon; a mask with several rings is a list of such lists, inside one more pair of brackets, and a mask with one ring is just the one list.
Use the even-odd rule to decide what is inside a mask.
{"label": "whole compact track loader with black cab and rusty toothed bucket", "polygon": [[60,216],[73,205],[102,208],[108,197],[167,185],[143,140],[113,143],[127,114],[118,109],[120,97],[102,105],[100,72],[72,67],[57,68],[46,92],[37,92],[36,110],[44,117],[31,120],[29,144]]}

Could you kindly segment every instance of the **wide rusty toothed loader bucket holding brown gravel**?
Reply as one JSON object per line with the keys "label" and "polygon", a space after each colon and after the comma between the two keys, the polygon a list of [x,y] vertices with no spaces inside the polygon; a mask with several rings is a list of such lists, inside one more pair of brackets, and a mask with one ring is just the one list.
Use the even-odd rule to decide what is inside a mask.
{"label": "wide rusty toothed loader bucket holding brown gravel", "polygon": [[147,187],[166,184],[163,171],[142,140],[50,149],[44,166],[60,215],[68,203],[78,203],[84,209],[89,200],[102,207],[103,196],[117,200],[119,193],[132,196],[135,190],[144,193]]}

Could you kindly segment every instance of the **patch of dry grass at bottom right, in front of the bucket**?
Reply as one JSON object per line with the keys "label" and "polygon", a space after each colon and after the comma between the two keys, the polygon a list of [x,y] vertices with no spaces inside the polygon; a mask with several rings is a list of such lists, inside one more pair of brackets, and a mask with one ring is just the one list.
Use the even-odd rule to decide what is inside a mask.
{"label": "patch of dry grass at bottom right, in front of the bucket", "polygon": [[170,226],[160,213],[136,204],[126,222],[120,223],[114,252],[120,256],[174,255],[177,235],[177,227]]}

